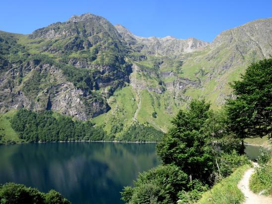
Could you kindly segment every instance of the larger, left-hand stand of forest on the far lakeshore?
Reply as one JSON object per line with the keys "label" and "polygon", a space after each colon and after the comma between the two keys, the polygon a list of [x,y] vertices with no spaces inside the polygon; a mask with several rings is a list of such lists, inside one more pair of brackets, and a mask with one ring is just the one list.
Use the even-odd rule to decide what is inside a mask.
{"label": "larger, left-hand stand of forest on the far lakeshore", "polygon": [[55,118],[52,111],[33,112],[22,108],[13,116],[11,126],[26,142],[100,141],[106,138],[103,129],[94,127],[94,123],[73,121],[63,115]]}

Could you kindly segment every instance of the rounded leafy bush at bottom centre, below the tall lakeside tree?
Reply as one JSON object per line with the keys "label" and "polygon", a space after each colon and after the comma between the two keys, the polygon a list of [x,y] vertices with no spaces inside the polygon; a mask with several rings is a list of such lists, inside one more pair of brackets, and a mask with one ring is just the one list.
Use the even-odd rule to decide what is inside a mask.
{"label": "rounded leafy bush at bottom centre, below the tall lakeside tree", "polygon": [[173,204],[177,194],[188,190],[188,175],[174,165],[155,167],[139,175],[134,188],[125,187],[122,200],[130,204]]}

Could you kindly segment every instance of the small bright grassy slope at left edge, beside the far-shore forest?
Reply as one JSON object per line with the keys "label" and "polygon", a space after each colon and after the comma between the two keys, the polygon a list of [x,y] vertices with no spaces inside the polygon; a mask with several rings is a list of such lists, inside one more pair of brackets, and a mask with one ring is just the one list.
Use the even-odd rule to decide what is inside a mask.
{"label": "small bright grassy slope at left edge, beside the far-shore forest", "polygon": [[0,143],[19,143],[22,142],[19,139],[18,133],[16,133],[10,125],[10,119],[15,114],[16,110],[12,109],[4,114],[0,114]]}

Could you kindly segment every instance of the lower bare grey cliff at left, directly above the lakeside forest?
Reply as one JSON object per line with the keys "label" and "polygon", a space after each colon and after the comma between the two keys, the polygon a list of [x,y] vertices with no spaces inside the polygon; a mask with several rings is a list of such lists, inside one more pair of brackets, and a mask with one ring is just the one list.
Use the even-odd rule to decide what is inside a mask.
{"label": "lower bare grey cliff at left, directly above the lakeside forest", "polygon": [[77,89],[51,64],[30,61],[9,69],[0,81],[1,112],[26,107],[35,111],[55,110],[86,120],[109,110],[106,100]]}

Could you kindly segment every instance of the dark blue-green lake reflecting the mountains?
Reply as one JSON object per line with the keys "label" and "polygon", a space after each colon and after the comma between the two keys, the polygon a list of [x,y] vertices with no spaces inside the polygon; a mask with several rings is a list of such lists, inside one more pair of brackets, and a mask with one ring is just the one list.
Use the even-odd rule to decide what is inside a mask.
{"label": "dark blue-green lake reflecting the mountains", "polygon": [[73,204],[122,204],[120,191],[160,164],[155,143],[33,143],[0,146],[0,183],[15,182]]}

